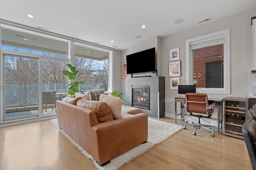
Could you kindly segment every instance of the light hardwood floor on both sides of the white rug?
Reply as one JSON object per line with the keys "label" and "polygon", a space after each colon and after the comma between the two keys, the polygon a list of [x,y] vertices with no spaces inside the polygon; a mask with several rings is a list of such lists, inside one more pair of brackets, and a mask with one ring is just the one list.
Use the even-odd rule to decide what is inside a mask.
{"label": "light hardwood floor on both sides of the white rug", "polygon": [[[160,120],[175,123],[169,117]],[[177,120],[177,124],[184,122]],[[252,170],[244,140],[182,129],[120,170]],[[1,170],[96,170],[50,120],[0,128]]]}

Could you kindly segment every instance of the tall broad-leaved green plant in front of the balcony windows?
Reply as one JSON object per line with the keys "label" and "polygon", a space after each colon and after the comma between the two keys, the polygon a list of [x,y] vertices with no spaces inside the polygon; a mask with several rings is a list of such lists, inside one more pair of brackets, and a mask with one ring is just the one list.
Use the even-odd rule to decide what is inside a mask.
{"label": "tall broad-leaved green plant in front of the balcony windows", "polygon": [[70,82],[68,82],[68,94],[70,94],[70,96],[72,98],[75,97],[75,93],[76,92],[81,92],[84,93],[84,89],[82,87],[79,87],[80,84],[83,84],[83,81],[77,81],[76,78],[78,78],[78,76],[80,76],[83,73],[78,74],[78,70],[76,70],[76,67],[72,66],[71,64],[67,64],[68,68],[70,68],[70,71],[68,70],[63,70],[62,73],[66,76],[68,76],[68,79],[70,80]]}

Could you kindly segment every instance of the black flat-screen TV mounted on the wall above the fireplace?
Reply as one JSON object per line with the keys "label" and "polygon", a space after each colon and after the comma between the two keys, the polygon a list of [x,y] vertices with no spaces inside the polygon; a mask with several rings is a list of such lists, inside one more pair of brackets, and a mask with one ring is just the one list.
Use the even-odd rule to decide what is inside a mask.
{"label": "black flat-screen TV mounted on the wall above the fireplace", "polygon": [[127,74],[156,71],[155,48],[126,55]]}

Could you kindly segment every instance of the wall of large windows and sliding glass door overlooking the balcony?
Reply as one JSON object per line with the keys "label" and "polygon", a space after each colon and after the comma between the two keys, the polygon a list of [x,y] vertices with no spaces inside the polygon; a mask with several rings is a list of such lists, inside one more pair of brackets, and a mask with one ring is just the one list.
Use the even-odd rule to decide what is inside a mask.
{"label": "wall of large windows and sliding glass door overlooking the balcony", "polygon": [[68,79],[62,74],[68,63],[82,73],[85,91],[108,92],[112,86],[110,48],[1,22],[0,39],[0,124],[55,116],[54,104],[44,105],[42,92],[68,96]]}

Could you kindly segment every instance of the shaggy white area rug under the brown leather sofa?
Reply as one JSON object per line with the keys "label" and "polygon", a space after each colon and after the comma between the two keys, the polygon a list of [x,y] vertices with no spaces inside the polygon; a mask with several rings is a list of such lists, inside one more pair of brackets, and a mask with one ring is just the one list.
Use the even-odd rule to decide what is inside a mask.
{"label": "shaggy white area rug under the brown leather sofa", "polygon": [[133,158],[136,158],[143,152],[146,152],[148,149],[154,147],[154,145],[161,143],[168,137],[172,136],[174,133],[180,131],[183,129],[183,126],[176,125],[173,123],[168,123],[165,121],[159,121],[156,119],[150,119],[148,118],[148,141],[144,144],[138,145],[137,147],[134,147],[133,149],[128,150],[127,152],[124,152],[123,154],[117,156],[116,158],[113,158],[110,160],[109,164],[106,164],[105,166],[100,166],[96,160],[88,154],[78,143],[76,143],[71,137],[69,137],[62,129],[60,129],[58,125],[57,119],[51,119],[50,120],[56,127],[59,129],[79,150],[82,151],[82,153],[92,160],[92,162],[95,164],[95,166],[99,170],[117,170],[120,168],[123,164],[126,164]]}

